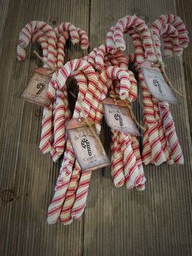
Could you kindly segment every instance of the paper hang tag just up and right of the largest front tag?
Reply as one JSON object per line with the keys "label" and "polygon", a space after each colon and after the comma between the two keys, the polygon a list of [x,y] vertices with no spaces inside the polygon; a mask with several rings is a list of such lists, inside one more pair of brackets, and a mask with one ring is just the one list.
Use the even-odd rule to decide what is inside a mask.
{"label": "paper hang tag just up and right of the largest front tag", "polygon": [[121,100],[106,98],[103,100],[104,115],[111,130],[128,132],[130,135],[140,135],[135,126],[129,108]]}

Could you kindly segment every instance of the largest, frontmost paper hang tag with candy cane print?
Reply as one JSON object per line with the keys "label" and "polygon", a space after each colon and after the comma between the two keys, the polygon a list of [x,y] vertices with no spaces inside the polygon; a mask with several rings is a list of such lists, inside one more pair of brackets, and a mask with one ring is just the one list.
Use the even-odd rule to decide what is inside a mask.
{"label": "largest, frontmost paper hang tag with candy cane print", "polygon": [[[66,129],[72,143],[72,148],[81,166],[81,170],[97,170],[110,165],[103,144],[98,138],[95,127],[93,131],[85,126],[82,119],[72,119],[68,122]],[[97,136],[97,138],[95,137]]]}

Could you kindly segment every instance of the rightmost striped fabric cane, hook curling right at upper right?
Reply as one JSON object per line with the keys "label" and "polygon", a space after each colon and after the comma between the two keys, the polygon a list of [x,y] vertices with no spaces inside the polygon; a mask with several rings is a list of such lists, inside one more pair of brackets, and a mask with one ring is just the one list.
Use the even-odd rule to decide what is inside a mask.
{"label": "rightmost striped fabric cane, hook curling right at upper right", "polygon": [[[168,28],[171,29],[168,29]],[[172,36],[172,30],[174,34]],[[183,49],[189,43],[188,32],[185,29],[180,17],[176,15],[161,15],[158,20],[151,25],[151,34],[155,42],[155,52],[157,60],[162,62],[162,55],[160,50],[160,39],[164,39],[164,51],[165,55],[181,55]],[[170,40],[172,38],[172,41]],[[166,45],[168,43],[168,45]],[[184,158],[182,155],[181,145],[177,138],[174,121],[172,114],[169,111],[168,104],[159,102],[159,111],[164,121],[165,136],[168,140],[168,146],[170,148],[172,160],[177,164],[183,164]]]}

